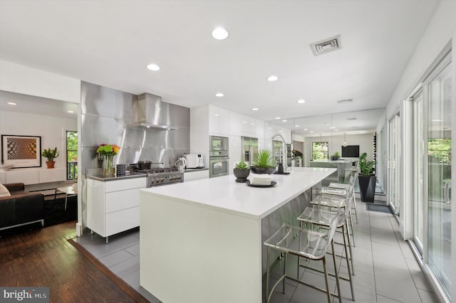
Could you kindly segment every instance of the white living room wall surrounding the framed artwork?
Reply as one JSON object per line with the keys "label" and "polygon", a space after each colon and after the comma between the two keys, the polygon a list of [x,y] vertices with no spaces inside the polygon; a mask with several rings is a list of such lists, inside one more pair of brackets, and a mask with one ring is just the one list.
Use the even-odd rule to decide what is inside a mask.
{"label": "white living room wall surrounding the framed artwork", "polygon": [[[60,155],[55,159],[56,173],[58,179],[66,180],[66,131],[77,131],[77,119],[63,119],[59,117],[24,114],[21,112],[1,112],[0,134],[40,136],[41,150],[57,147]],[[41,156],[41,168],[46,169],[46,158]],[[63,169],[63,170],[61,170]],[[37,174],[38,168],[12,169],[11,172],[17,174],[18,171],[27,171],[27,174]],[[10,172],[8,171],[8,173]],[[63,175],[62,175],[63,173]],[[48,174],[42,172],[41,175]],[[56,176],[52,177],[56,181]],[[7,181],[8,179],[6,179]],[[35,179],[31,179],[35,180]],[[43,179],[43,180],[46,180]],[[47,179],[51,180],[51,179]],[[30,184],[30,182],[24,182]]]}

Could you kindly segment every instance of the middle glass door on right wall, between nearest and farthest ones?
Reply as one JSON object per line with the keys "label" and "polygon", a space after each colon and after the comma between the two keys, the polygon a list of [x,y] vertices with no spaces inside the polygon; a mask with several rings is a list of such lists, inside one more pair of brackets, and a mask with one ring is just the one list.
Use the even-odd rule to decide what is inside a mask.
{"label": "middle glass door on right wall, between nearest and farthest ones", "polygon": [[423,257],[424,186],[423,156],[425,155],[423,92],[413,97],[413,243]]}

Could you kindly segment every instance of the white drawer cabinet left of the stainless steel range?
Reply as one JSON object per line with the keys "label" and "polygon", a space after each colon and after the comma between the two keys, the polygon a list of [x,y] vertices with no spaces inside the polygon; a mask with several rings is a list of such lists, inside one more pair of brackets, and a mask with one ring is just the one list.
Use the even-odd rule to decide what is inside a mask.
{"label": "white drawer cabinet left of the stainless steel range", "polygon": [[87,227],[106,238],[140,225],[140,188],[146,177],[87,180]]}

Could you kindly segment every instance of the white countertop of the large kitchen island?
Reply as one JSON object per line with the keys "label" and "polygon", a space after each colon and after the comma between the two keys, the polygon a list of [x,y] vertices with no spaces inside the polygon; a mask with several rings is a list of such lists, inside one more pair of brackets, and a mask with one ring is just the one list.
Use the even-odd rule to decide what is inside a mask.
{"label": "white countertop of the large kitchen island", "polygon": [[237,183],[233,175],[201,179],[142,189],[150,196],[172,198],[182,203],[233,213],[237,216],[261,219],[308,190],[336,169],[294,167],[289,175],[271,175],[277,184],[270,188],[256,188]]}

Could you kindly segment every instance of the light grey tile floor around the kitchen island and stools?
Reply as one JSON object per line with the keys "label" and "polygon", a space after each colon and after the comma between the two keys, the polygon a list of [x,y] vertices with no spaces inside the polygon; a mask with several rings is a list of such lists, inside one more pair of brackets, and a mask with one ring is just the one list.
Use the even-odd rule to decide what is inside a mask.
{"label": "light grey tile floor around the kitchen island and stools", "polygon": [[[353,248],[353,287],[356,302],[438,302],[408,243],[400,239],[399,226],[394,216],[389,213],[367,211],[366,204],[359,200],[357,210],[358,224],[353,222],[356,240],[356,247]],[[336,235],[336,238],[341,239],[341,235]],[[82,238],[76,238],[76,241],[150,302],[160,302],[140,287],[138,230],[112,236],[107,245],[98,235],[84,235]],[[341,245],[336,245],[336,250],[343,252]],[[333,264],[332,259],[329,260],[331,262],[328,261],[328,269],[331,271]],[[283,260],[274,267],[271,285],[275,282],[274,275],[279,276],[276,272],[281,271],[281,262]],[[296,272],[296,260],[289,258],[288,265],[290,270]],[[342,274],[348,274],[345,260],[338,258],[337,265]],[[321,268],[318,263],[313,266]],[[318,272],[301,268],[299,275],[302,280],[324,287],[323,275]],[[333,277],[330,277],[330,287],[336,292],[336,280]],[[341,293],[343,302],[351,301],[350,285],[343,280]],[[287,281],[285,294],[281,293],[281,286],[278,286],[271,302],[320,303],[325,302],[325,298],[322,292]],[[333,299],[333,302],[338,302],[338,299]]]}

